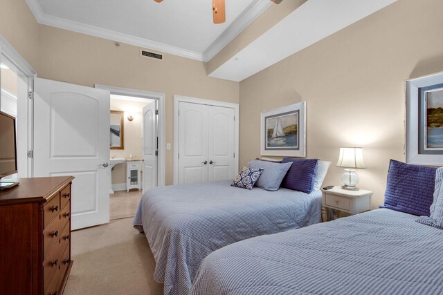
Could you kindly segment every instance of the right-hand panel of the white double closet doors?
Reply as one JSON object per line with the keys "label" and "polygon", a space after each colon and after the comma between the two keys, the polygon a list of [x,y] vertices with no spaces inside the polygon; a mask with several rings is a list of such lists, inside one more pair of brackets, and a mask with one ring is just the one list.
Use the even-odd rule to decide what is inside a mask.
{"label": "right-hand panel of the white double closet doors", "polygon": [[208,108],[208,181],[234,178],[235,110]]}

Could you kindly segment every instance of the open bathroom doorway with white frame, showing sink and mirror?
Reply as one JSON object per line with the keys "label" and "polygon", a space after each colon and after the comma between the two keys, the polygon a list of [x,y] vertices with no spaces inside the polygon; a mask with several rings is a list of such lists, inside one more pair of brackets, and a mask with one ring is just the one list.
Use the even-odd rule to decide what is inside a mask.
{"label": "open bathroom doorway with white frame, showing sink and mirror", "polygon": [[109,218],[132,217],[143,192],[164,185],[164,95],[96,88],[111,92]]}

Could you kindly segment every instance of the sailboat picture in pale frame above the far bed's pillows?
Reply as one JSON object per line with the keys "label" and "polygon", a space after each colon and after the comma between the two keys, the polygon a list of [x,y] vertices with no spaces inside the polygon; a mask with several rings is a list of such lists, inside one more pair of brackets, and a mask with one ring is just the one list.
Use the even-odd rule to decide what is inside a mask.
{"label": "sailboat picture in pale frame above the far bed's pillows", "polygon": [[261,116],[261,154],[306,156],[306,102],[291,104]]}

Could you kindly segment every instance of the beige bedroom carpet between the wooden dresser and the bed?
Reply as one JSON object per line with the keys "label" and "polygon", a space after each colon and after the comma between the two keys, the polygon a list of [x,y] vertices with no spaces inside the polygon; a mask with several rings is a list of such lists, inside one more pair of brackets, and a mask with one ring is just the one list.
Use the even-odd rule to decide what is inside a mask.
{"label": "beige bedroom carpet between the wooden dresser and the bed", "polygon": [[132,218],[73,231],[71,249],[74,264],[65,295],[163,294],[163,284],[153,278],[150,247]]}

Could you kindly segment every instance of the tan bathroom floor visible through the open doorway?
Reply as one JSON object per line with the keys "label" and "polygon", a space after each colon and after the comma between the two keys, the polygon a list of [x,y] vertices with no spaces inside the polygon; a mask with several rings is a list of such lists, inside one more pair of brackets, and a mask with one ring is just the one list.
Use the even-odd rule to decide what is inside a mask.
{"label": "tan bathroom floor visible through the open doorway", "polygon": [[137,190],[129,191],[129,193],[127,191],[111,193],[109,195],[109,219],[134,217],[141,195],[142,192]]}

